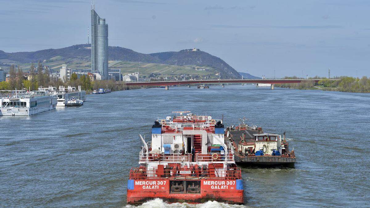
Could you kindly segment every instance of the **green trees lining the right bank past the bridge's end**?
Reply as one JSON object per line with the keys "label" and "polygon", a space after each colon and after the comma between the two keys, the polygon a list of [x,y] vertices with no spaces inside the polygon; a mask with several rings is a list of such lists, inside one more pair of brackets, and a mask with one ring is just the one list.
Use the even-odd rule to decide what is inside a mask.
{"label": "green trees lining the right bank past the bridge's end", "polygon": [[[299,79],[298,77],[284,77],[284,79]],[[370,78],[354,78],[354,77],[334,77],[336,81],[331,81],[328,78],[312,77],[309,79],[322,79],[317,84],[322,90],[341,91],[351,93],[370,93]],[[309,89],[316,85],[314,81],[303,81],[301,83],[276,84],[276,87]]]}

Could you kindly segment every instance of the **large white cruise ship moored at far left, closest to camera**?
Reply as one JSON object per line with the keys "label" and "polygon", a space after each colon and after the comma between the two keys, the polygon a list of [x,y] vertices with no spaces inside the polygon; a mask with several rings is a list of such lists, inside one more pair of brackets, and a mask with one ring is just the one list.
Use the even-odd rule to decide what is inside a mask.
{"label": "large white cruise ship moored at far left, closest to camera", "polygon": [[57,106],[57,97],[48,91],[15,91],[0,97],[0,115],[33,115]]}

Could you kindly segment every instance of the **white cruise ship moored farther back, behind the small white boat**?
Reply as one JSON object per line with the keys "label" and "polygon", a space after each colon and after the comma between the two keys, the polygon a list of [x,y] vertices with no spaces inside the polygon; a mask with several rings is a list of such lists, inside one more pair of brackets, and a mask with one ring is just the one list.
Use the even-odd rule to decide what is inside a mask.
{"label": "white cruise ship moored farther back, behind the small white boat", "polygon": [[57,106],[66,106],[68,99],[72,97],[78,100],[86,100],[86,91],[81,90],[81,86],[78,86],[78,90],[76,90],[76,87],[68,86],[65,88],[64,86],[59,86],[58,91],[55,91],[54,94],[58,96]]}

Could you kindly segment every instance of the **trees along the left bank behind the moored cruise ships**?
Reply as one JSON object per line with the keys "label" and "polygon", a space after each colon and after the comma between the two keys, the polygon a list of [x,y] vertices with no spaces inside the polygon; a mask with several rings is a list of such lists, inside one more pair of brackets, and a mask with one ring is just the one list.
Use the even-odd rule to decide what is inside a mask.
{"label": "trees along the left bank behind the moored cruise ships", "polygon": [[54,87],[73,86],[77,87],[81,85],[81,88],[86,91],[92,91],[98,88],[110,89],[112,91],[127,90],[128,87],[125,84],[116,84],[115,80],[94,80],[91,81],[90,77],[83,75],[80,78],[77,74],[73,73],[70,80],[63,82],[61,79],[57,81],[50,80],[50,72],[48,68],[44,68],[41,63],[38,63],[35,70],[35,66],[32,63],[30,67],[30,73],[27,74],[27,78],[23,73],[23,70],[18,67],[17,70],[14,65],[10,66],[9,70],[9,81],[0,82],[0,90],[21,90],[27,88],[29,90],[37,90],[38,87],[48,87],[49,85]]}

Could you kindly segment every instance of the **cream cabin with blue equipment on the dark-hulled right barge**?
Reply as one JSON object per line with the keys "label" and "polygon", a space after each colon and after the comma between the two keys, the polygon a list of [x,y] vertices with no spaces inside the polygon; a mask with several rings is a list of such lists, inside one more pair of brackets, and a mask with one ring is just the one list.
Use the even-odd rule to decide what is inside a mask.
{"label": "cream cabin with blue equipment on the dark-hulled right barge", "polygon": [[[253,134],[253,140],[242,138],[239,142],[239,152],[244,155],[254,154],[256,156],[272,155],[280,156],[285,147],[282,146],[281,136],[278,134]],[[244,137],[244,135],[243,135]]]}

